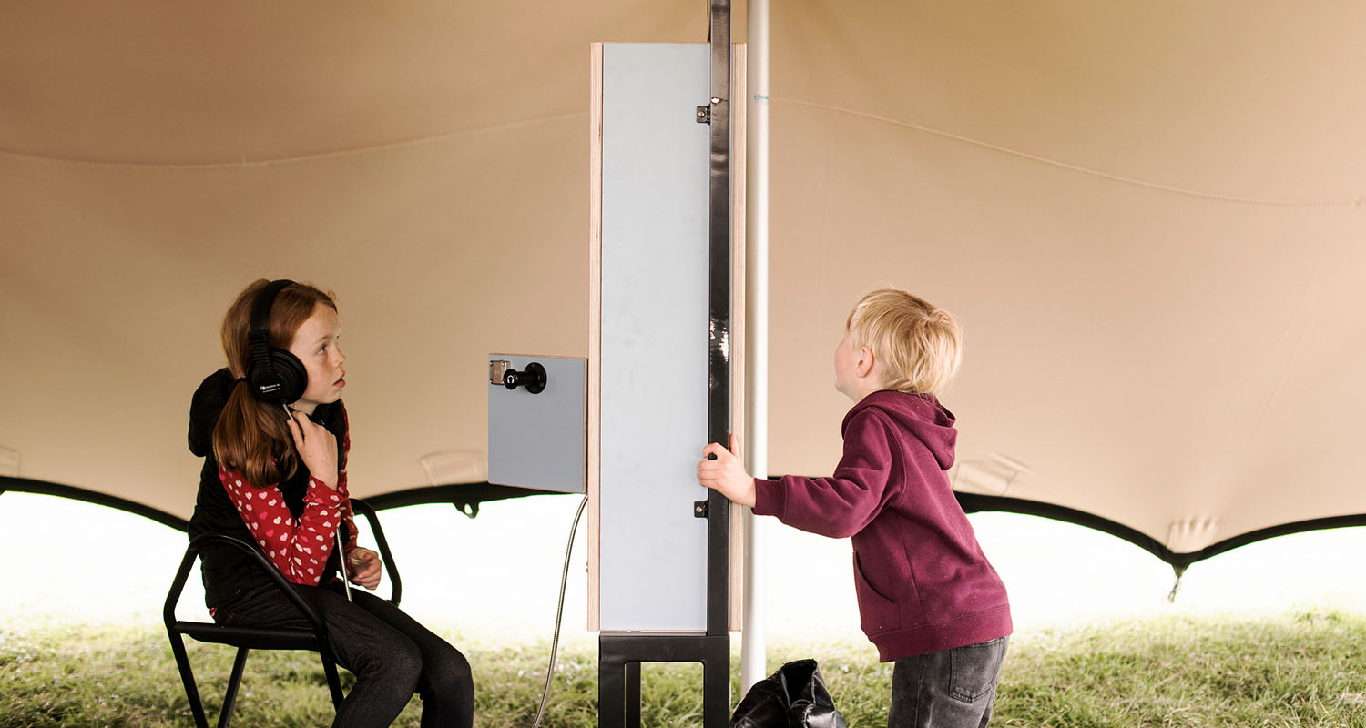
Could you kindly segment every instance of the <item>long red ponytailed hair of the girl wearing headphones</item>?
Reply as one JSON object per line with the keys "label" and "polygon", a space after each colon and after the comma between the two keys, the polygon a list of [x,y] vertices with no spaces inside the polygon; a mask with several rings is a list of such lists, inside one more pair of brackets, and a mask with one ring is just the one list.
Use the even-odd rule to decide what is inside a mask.
{"label": "long red ponytailed hair of the girl wearing headphones", "polygon": [[[284,423],[284,411],[251,396],[251,388],[240,381],[247,376],[247,363],[251,361],[251,344],[247,341],[251,309],[269,283],[261,279],[247,285],[223,317],[223,354],[228,359],[228,372],[239,381],[232,387],[228,403],[213,426],[213,456],[219,466],[242,473],[257,488],[290,478],[299,464],[294,438]],[[318,306],[337,310],[336,298],[331,292],[305,283],[281,288],[266,318],[269,344],[290,348],[294,333]]]}

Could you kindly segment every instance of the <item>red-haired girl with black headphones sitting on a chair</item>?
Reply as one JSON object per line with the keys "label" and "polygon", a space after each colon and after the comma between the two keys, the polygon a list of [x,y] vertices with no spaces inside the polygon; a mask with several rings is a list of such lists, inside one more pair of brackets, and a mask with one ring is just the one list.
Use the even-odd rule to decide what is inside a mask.
{"label": "red-haired girl with black headphones sitting on a chair", "polygon": [[[417,692],[423,728],[466,728],[474,682],[464,656],[388,601],[359,589],[348,600],[342,582],[343,556],[350,580],[370,590],[382,564],[357,546],[347,500],[340,333],[336,300],[311,285],[258,280],[238,295],[221,329],[228,366],[190,406],[190,451],[204,458],[190,538],[255,542],[322,616],[357,677],[333,727],[389,725]],[[205,549],[202,572],[220,624],[307,626],[246,555]]]}

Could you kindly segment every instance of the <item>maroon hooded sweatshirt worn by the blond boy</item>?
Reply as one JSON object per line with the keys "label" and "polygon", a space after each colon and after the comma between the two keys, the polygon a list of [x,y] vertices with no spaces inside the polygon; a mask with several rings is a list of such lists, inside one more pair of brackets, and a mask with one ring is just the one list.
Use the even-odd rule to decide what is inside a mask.
{"label": "maroon hooded sweatshirt worn by the blond boy", "polygon": [[953,414],[932,395],[873,392],[843,423],[831,478],[755,478],[754,512],[852,537],[863,632],[884,662],[1011,634],[1005,585],[986,561],[944,473]]}

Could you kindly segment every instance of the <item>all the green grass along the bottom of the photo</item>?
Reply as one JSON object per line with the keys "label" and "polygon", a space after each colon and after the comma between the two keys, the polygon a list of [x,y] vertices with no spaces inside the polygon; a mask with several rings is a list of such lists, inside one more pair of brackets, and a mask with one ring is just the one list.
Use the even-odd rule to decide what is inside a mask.
{"label": "all the green grass along the bottom of the photo", "polygon": [[[451,638],[474,665],[478,725],[530,727],[546,645]],[[1255,619],[1169,615],[1018,634],[992,725],[1366,728],[1363,645],[1366,616],[1337,611]],[[851,727],[885,725],[891,665],[878,664],[869,645],[769,647],[772,668],[802,657],[821,662]],[[212,721],[232,653],[191,641],[190,660]],[[738,665],[732,673],[738,682]],[[343,672],[343,682],[350,679]],[[643,725],[699,725],[699,665],[650,664],[642,682]],[[597,725],[593,646],[561,649],[552,691],[544,725]],[[419,710],[414,701],[395,725],[417,727]],[[235,725],[313,727],[331,718],[316,656],[255,653],[247,661]],[[191,725],[191,718],[161,630],[0,628],[0,728],[169,725]]]}

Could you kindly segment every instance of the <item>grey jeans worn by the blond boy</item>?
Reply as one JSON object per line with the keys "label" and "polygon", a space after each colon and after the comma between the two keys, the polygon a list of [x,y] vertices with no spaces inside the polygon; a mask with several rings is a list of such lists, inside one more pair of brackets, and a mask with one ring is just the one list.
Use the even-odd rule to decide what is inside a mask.
{"label": "grey jeans worn by the blond boy", "polygon": [[892,668],[888,728],[986,728],[1009,636],[903,657]]}

